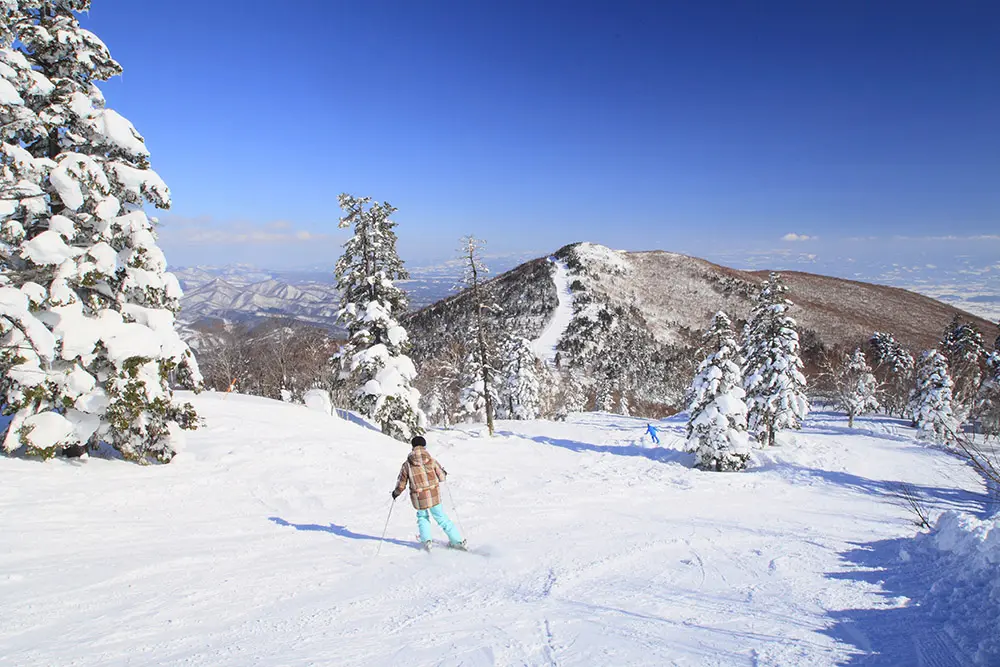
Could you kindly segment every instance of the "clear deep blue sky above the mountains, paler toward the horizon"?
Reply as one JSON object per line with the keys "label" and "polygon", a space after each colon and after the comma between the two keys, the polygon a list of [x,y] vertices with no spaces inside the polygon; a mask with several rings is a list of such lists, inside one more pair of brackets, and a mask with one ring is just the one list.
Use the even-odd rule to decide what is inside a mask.
{"label": "clear deep blue sky above the mountains, paler toward the horizon", "polygon": [[996,3],[94,0],[82,22],[173,191],[174,264],[332,264],[342,191],[397,206],[416,263],[470,232],[1000,255]]}

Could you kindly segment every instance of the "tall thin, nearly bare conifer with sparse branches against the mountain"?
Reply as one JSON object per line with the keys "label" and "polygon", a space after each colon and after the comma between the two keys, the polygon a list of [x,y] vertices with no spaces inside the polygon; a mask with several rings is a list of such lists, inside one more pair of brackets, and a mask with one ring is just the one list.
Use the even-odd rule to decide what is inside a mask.
{"label": "tall thin, nearly bare conifer with sparse branches against the mountain", "polygon": [[465,265],[462,283],[468,290],[474,310],[467,331],[466,348],[470,353],[462,383],[461,402],[466,419],[484,420],[492,436],[502,376],[498,368],[496,340],[488,317],[497,311],[497,306],[493,303],[488,286],[483,284],[489,273],[481,259],[485,245],[486,242],[482,239],[466,236],[459,247],[460,257]]}

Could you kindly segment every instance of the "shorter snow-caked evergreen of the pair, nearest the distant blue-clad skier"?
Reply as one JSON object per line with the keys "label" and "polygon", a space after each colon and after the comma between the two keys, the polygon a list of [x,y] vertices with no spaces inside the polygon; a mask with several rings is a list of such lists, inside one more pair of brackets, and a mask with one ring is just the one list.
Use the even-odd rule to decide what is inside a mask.
{"label": "shorter snow-caked evergreen of the pair, nearest the distant blue-clad skier", "polygon": [[705,349],[709,354],[688,392],[687,448],[698,456],[699,468],[743,470],[750,460],[747,406],[739,348],[725,313],[716,313],[712,320],[705,334]]}

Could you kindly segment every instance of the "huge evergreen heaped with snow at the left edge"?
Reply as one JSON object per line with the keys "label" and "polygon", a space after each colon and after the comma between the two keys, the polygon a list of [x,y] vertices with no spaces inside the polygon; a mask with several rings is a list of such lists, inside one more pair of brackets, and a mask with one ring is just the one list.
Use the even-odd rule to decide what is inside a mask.
{"label": "huge evergreen heaped with snow at the left edge", "polygon": [[89,6],[0,3],[3,449],[105,442],[167,462],[197,421],[171,381],[201,381],[174,329],[180,286],[144,211],[168,208],[170,193],[135,127],[105,106],[96,84],[122,69],[79,26]]}

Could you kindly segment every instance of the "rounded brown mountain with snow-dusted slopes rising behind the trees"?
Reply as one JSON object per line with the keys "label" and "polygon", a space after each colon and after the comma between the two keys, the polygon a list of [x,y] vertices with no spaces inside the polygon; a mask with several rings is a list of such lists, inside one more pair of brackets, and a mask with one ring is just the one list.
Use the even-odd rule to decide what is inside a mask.
{"label": "rounded brown mountain with snow-dusted slopes rising behind the trees", "polygon": [[[676,403],[690,381],[701,335],[724,310],[744,321],[767,271],[740,271],[662,250],[626,252],[576,243],[551,258],[526,262],[490,281],[498,327],[537,338],[556,311],[555,262],[568,267],[573,317],[558,343],[560,364],[591,380],[634,388],[643,400]],[[975,323],[990,346],[995,324],[930,297],[798,271],[783,271],[807,365],[824,351],[864,346],[891,333],[914,354],[938,344],[955,315]],[[465,293],[412,313],[404,325],[418,366],[462,339],[471,304]]]}

